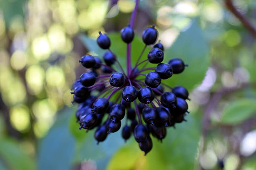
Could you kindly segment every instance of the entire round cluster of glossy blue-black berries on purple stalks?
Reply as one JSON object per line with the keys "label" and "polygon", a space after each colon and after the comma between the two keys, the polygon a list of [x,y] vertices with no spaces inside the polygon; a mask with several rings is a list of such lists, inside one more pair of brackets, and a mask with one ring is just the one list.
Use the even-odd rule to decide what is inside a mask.
{"label": "entire round cluster of glossy blue-black berries on purple stalks", "polygon": [[[162,141],[166,136],[166,127],[174,127],[175,123],[185,120],[185,113],[188,112],[188,91],[182,86],[169,87],[161,80],[181,73],[187,65],[178,58],[163,63],[164,47],[160,41],[148,52],[148,59],[139,62],[146,46],[153,45],[157,40],[158,31],[153,25],[143,31],[145,48],[134,67],[129,67],[131,63],[128,60],[128,70],[125,73],[116,55],[110,50],[110,38],[99,33],[97,44],[108,50],[103,55],[105,64],[98,57],[84,55],[79,62],[88,70],[81,75],[80,80],[74,82],[74,91],[71,92],[74,94],[73,102],[79,103],[76,117],[80,129],[91,130],[97,127],[94,136],[99,143],[105,140],[109,133],[120,129],[126,112],[122,137],[127,140],[133,133],[139,148],[146,155],[152,149],[150,133]],[[121,30],[121,38],[128,45],[133,37],[133,29],[129,25]],[[157,65],[146,67],[148,62]],[[114,69],[115,64],[120,72]],[[142,73],[150,70],[153,71],[146,75]],[[165,88],[170,91],[165,91]]]}

